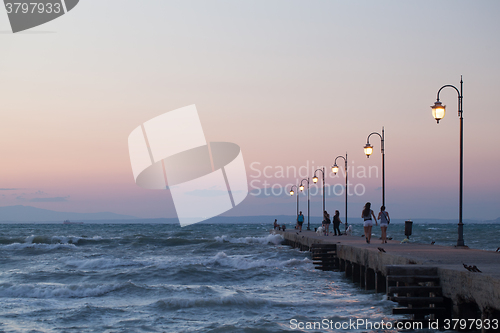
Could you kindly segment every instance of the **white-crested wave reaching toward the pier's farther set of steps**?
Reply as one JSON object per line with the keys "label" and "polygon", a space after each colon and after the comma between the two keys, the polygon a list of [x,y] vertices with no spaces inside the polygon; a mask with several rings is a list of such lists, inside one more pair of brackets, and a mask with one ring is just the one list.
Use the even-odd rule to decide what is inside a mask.
{"label": "white-crested wave reaching toward the pier's farther set of steps", "polygon": [[309,258],[288,259],[285,261],[276,259],[249,259],[242,256],[229,257],[226,253],[219,252],[214,258],[210,259],[208,263],[246,270],[259,267],[298,267],[301,265],[310,265],[312,261]]}

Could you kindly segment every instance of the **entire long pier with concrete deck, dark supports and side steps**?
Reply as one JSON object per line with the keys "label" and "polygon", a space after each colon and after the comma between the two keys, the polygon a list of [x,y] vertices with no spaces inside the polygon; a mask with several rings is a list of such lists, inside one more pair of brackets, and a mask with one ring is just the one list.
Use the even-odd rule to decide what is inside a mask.
{"label": "entire long pier with concrete deck, dark supports and side steps", "polygon": [[311,251],[317,269],[344,272],[360,288],[386,293],[399,304],[393,314],[414,321],[500,319],[500,252],[395,240],[382,244],[376,238],[367,244],[360,236],[294,229],[272,232],[286,245]]}

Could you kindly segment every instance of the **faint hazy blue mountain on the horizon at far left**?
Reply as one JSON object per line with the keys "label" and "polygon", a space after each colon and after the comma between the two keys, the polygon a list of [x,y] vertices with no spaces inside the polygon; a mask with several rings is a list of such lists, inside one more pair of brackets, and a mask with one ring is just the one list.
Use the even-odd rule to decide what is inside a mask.
{"label": "faint hazy blue mountain on the horizon at far left", "polygon": [[129,215],[120,215],[110,212],[102,213],[71,213],[56,212],[48,209],[30,206],[0,207],[0,222],[44,222],[44,221],[90,221],[90,220],[127,220],[137,219]]}

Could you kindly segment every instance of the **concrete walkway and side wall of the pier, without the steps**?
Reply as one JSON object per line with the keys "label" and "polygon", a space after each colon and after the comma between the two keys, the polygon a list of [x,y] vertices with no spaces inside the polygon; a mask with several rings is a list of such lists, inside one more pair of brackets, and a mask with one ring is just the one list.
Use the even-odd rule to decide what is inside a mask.
{"label": "concrete walkway and side wall of the pier, without the steps", "polygon": [[[313,231],[295,229],[272,232],[281,234],[287,244],[303,250],[309,250],[313,244],[336,244],[341,271],[342,267],[345,270],[345,263],[358,265],[361,271],[374,272],[376,280],[382,277],[385,281],[387,267],[391,265],[436,267],[443,296],[453,302],[454,318],[477,317],[478,312],[480,318],[500,318],[500,252],[411,242],[402,244],[395,240],[382,244],[378,237],[372,237],[371,244],[367,244],[360,236],[320,236]],[[470,272],[463,264],[475,265],[482,273]]]}

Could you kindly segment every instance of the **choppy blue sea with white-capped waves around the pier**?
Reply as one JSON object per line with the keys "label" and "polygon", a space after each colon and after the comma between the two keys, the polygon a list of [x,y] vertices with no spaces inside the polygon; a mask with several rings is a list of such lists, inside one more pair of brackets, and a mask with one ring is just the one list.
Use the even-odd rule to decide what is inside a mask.
{"label": "choppy blue sea with white-capped waves around the pier", "polygon": [[[397,332],[395,303],[316,270],[273,222],[0,224],[0,332]],[[410,241],[451,246],[456,230],[418,223]],[[466,225],[466,244],[494,251],[499,232]]]}

